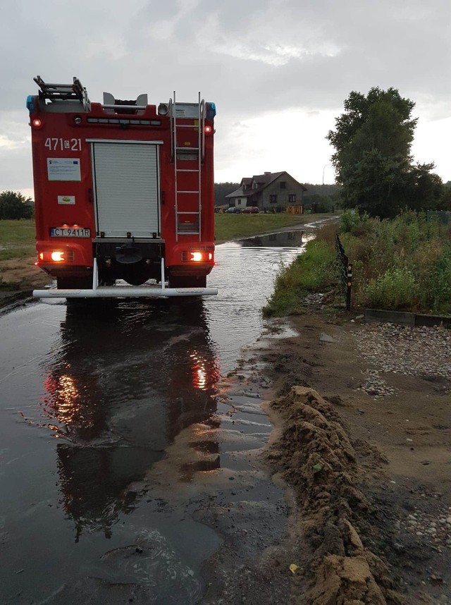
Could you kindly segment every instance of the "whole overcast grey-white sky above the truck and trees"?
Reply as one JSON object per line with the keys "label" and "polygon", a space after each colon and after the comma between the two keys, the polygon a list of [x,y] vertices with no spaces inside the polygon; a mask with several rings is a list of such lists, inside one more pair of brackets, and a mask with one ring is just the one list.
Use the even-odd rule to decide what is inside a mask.
{"label": "whole overcast grey-white sky above the truck and trees", "polygon": [[32,195],[32,78],[149,103],[216,102],[215,181],[332,183],[326,141],[352,90],[416,103],[412,151],[451,180],[449,0],[16,0],[0,8],[0,191]]}

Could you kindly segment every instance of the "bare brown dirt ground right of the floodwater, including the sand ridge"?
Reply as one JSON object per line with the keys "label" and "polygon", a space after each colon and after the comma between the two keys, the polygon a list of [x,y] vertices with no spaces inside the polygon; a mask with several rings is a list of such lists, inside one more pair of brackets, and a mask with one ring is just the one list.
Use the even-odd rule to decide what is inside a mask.
{"label": "bare brown dirt ground right of the floodwater, including the sand ridge", "polygon": [[268,460],[297,501],[292,602],[451,604],[451,381],[383,372],[382,396],[364,390],[374,324],[355,317],[311,308],[290,320],[298,336],[256,352]]}

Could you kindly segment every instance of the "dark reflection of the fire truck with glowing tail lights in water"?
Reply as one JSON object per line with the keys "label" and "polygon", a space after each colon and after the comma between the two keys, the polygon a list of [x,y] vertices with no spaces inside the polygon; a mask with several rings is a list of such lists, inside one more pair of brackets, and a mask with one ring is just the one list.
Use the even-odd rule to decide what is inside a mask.
{"label": "dark reflection of the fire truck with glowing tail lights in water", "polygon": [[[61,437],[61,507],[77,541],[85,532],[109,538],[142,500],[142,479],[166,445],[190,424],[214,427],[221,374],[203,303],[140,303],[89,315],[68,307],[44,371],[46,426]],[[202,447],[205,440],[217,453],[213,437]],[[217,468],[217,454],[208,463]]]}

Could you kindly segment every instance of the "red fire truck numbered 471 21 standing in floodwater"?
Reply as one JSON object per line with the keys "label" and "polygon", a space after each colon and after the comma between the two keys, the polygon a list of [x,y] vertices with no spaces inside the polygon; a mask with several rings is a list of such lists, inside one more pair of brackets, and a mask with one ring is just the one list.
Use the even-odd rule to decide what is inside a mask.
{"label": "red fire truck numbered 471 21 standing in floodwater", "polygon": [[56,287],[36,298],[217,294],[214,103],[147,104],[78,78],[27,98],[35,181],[37,265]]}

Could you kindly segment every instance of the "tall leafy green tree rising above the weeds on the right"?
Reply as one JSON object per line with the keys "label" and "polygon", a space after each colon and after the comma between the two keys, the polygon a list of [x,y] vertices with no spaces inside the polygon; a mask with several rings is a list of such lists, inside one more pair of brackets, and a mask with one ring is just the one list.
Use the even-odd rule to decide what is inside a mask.
{"label": "tall leafy green tree rising above the weeds on the right", "polygon": [[343,205],[386,218],[406,206],[440,204],[443,184],[431,174],[433,164],[412,165],[414,102],[395,88],[375,87],[366,97],[351,92],[344,106],[345,113],[326,137],[335,147],[332,162]]}

